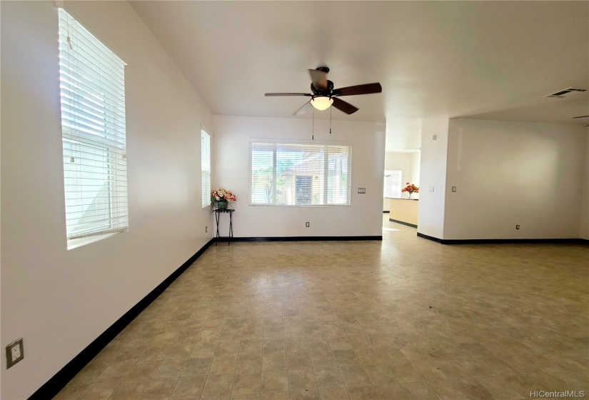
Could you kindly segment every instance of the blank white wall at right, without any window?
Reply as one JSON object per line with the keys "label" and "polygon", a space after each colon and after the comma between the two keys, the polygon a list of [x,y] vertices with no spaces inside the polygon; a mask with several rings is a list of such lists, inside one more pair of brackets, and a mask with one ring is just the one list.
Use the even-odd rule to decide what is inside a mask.
{"label": "blank white wall at right, without any window", "polygon": [[578,125],[451,119],[443,239],[578,238],[587,140]]}

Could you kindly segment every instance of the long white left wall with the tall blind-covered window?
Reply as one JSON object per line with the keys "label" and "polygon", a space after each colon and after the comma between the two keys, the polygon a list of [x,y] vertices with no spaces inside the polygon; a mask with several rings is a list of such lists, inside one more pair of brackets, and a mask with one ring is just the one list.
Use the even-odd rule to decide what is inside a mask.
{"label": "long white left wall with the tall blind-covered window", "polygon": [[126,61],[129,232],[66,250],[58,14],[1,2],[1,398],[26,399],[210,239],[200,126],[211,112],[126,2],[66,10]]}

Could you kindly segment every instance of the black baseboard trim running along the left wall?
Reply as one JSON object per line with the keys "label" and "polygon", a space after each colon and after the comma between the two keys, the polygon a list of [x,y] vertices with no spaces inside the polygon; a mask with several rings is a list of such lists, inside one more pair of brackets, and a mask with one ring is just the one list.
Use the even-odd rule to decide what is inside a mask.
{"label": "black baseboard trim running along the left wall", "polygon": [[127,325],[133,321],[136,316],[141,314],[141,311],[147,308],[149,304],[163,293],[168,286],[175,281],[189,266],[193,264],[198,257],[200,257],[211,244],[215,243],[215,238],[209,240],[200,250],[196,251],[191,258],[188,259],[180,268],[173,271],[170,276],[158,284],[156,289],[153,289],[147,296],[139,301],[133,308],[127,311],[124,316],[121,316],[109,329],[106,329],[99,337],[97,337],[91,344],[86,346],[86,349],[82,350],[80,354],[69,361],[64,368],[62,368],[57,374],[55,374],[49,381],[41,386],[37,391],[29,397],[29,400],[46,400],[52,399],[61,389],[68,384],[71,379],[78,374],[81,369],[86,366],[94,357],[100,353],[104,347],[109,344]]}

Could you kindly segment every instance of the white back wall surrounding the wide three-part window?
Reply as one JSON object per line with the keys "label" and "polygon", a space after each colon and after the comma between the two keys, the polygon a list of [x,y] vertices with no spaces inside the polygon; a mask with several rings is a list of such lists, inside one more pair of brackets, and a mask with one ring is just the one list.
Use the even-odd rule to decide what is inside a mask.
{"label": "white back wall surrounding the wide three-part window", "polygon": [[[385,125],[315,121],[315,140],[352,144],[351,206],[248,206],[249,139],[311,140],[308,119],[214,116],[213,186],[236,194],[233,231],[239,237],[382,235]],[[365,187],[366,194],[358,194]],[[305,227],[305,222],[310,227]],[[223,225],[224,224],[224,225]],[[226,234],[227,221],[221,221]],[[223,229],[225,231],[223,232]]]}

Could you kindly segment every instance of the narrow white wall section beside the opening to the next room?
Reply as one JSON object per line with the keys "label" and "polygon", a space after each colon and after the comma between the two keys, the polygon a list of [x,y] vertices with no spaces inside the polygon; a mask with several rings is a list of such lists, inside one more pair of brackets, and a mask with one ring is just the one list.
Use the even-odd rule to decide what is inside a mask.
{"label": "narrow white wall section beside the opening to the next room", "polygon": [[[417,231],[441,239],[444,231],[448,119],[424,119],[421,131],[420,196]],[[436,140],[433,140],[436,135]],[[434,191],[428,191],[433,186]]]}

